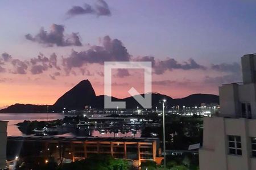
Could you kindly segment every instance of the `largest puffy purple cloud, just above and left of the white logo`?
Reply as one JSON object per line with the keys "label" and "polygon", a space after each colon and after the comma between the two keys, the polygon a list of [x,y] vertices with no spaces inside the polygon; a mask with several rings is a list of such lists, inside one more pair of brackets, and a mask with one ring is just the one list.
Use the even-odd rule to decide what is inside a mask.
{"label": "largest puffy purple cloud, just above and left of the white logo", "polygon": [[72,50],[69,57],[63,58],[63,66],[69,71],[73,67],[81,67],[86,63],[100,63],[105,61],[130,61],[130,55],[125,46],[118,39],[110,39],[105,36],[102,46],[91,46],[88,50],[76,52]]}

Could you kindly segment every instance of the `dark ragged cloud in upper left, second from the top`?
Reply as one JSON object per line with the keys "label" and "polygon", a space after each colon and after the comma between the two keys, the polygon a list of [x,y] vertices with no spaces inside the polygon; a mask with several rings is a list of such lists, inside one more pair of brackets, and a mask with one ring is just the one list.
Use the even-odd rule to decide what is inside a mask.
{"label": "dark ragged cloud in upper left, second from the top", "polygon": [[49,33],[41,28],[36,36],[32,36],[28,33],[25,37],[27,40],[38,42],[46,46],[81,46],[79,33],[72,32],[71,35],[64,35],[64,25],[52,24]]}

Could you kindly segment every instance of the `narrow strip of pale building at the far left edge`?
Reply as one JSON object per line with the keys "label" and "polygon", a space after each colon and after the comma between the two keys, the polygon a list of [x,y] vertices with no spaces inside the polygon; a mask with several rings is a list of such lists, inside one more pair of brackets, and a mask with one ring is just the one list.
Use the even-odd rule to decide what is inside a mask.
{"label": "narrow strip of pale building at the far left edge", "polygon": [[7,121],[0,121],[0,169],[6,168]]}

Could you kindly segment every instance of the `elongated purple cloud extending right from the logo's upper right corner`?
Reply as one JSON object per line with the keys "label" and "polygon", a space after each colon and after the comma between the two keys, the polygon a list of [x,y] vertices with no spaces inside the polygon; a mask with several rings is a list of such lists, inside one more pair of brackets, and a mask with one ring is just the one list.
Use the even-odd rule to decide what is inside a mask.
{"label": "elongated purple cloud extending right from the logo's upper right corner", "polygon": [[188,61],[183,63],[177,62],[174,58],[167,58],[163,61],[158,61],[155,64],[155,74],[163,74],[167,70],[181,69],[181,70],[192,70],[200,69],[205,70],[206,67],[199,65],[194,59],[190,58]]}

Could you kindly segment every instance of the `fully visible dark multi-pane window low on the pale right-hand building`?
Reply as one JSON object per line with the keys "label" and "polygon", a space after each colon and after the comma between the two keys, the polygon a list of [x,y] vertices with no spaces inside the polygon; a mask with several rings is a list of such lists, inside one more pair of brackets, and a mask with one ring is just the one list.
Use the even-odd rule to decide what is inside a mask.
{"label": "fully visible dark multi-pane window low on the pale right-hand building", "polygon": [[228,139],[229,139],[229,154],[242,155],[241,137],[228,135]]}

